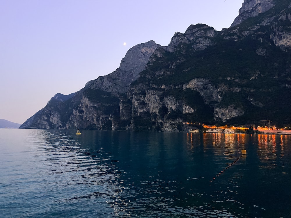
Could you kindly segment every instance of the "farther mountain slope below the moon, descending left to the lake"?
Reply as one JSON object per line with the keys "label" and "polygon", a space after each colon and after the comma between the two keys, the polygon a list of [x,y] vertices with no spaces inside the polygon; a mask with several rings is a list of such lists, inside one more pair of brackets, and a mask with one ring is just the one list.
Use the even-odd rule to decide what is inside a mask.
{"label": "farther mountain slope below the moon, descending left to the lake", "polygon": [[[111,126],[110,128],[107,126],[112,119],[111,109],[120,101],[114,96],[125,93],[129,89],[139,72],[145,69],[150,55],[158,46],[154,41],[149,41],[132,47],[127,51],[116,71],[89,81],[83,89],[66,97],[64,95],[59,97],[61,94],[56,94],[44,108],[27,119],[20,128],[111,129]],[[115,99],[116,102],[108,102],[108,99]]]}

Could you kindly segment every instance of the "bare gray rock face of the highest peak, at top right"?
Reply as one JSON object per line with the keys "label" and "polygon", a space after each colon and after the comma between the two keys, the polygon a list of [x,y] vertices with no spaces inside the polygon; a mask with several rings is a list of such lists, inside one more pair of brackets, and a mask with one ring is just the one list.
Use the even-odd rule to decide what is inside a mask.
{"label": "bare gray rock face of the highest peak, at top right", "polygon": [[244,0],[239,15],[235,18],[230,27],[237,26],[249,17],[255,17],[274,7],[274,0]]}

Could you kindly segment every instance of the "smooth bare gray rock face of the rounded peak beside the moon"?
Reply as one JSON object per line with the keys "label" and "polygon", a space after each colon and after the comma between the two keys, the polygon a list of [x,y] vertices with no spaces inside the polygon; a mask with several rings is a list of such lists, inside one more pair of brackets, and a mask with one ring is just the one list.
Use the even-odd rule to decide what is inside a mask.
{"label": "smooth bare gray rock face of the rounded peak beside the moon", "polygon": [[124,93],[128,91],[129,85],[134,82],[159,45],[154,41],[138,44],[129,49],[121,60],[116,71],[107,76],[100,76],[89,81],[85,87],[90,89],[101,89],[111,93]]}

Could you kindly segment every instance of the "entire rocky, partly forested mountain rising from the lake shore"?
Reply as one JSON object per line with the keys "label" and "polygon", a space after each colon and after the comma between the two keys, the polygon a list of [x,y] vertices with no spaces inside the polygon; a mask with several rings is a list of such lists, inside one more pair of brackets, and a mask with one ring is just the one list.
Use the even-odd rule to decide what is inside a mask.
{"label": "entire rocky, partly forested mountain rising from the lake shore", "polygon": [[245,0],[228,29],[134,46],[115,72],[56,94],[20,128],[186,131],[187,123],[291,123],[291,1]]}

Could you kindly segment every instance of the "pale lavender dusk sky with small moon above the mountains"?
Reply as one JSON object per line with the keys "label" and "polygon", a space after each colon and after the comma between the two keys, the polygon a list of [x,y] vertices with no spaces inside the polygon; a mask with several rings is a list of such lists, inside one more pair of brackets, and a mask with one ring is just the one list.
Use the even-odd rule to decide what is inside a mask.
{"label": "pale lavender dusk sky with small moon above the mountains", "polygon": [[229,28],[243,0],[0,0],[0,119],[22,124],[56,93],[119,67],[131,47],[167,46],[191,24]]}

